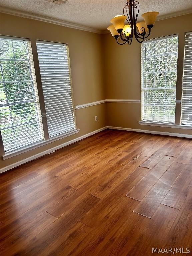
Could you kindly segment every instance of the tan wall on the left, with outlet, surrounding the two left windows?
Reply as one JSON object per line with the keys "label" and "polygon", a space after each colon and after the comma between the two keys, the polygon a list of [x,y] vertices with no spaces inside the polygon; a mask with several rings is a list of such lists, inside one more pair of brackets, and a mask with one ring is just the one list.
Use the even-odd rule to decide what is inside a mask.
{"label": "tan wall on the left, with outlet, surrounding the two left windows", "polygon": [[[1,14],[0,33],[31,40],[41,103],[43,97],[35,40],[69,45],[74,105],[105,99],[102,35],[7,14]],[[106,126],[105,104],[75,110],[75,115],[79,133],[6,160],[0,157],[1,168]],[[97,122],[95,115],[98,116]]]}

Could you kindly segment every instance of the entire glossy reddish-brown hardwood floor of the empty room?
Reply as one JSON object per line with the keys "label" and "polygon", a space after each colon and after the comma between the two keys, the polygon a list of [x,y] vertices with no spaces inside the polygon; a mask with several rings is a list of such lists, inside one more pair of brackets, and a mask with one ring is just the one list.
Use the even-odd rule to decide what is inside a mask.
{"label": "entire glossy reddish-brown hardwood floor of the empty room", "polygon": [[192,255],[192,140],[105,130],[0,178],[1,255]]}

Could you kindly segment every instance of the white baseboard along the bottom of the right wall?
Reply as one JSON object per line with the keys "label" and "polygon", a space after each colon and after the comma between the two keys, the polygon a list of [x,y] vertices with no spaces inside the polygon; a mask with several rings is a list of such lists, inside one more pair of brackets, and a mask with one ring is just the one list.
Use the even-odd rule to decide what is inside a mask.
{"label": "white baseboard along the bottom of the right wall", "polygon": [[158,135],[166,135],[166,136],[173,136],[173,137],[180,137],[180,138],[192,139],[192,135],[190,135],[190,134],[172,133],[172,132],[148,131],[148,130],[141,130],[141,129],[132,129],[132,128],[115,127],[115,126],[107,126],[107,128],[108,128],[108,129],[115,129],[115,130],[123,130],[123,131],[131,131],[131,132],[142,132],[142,133],[150,133],[150,134],[158,134]]}

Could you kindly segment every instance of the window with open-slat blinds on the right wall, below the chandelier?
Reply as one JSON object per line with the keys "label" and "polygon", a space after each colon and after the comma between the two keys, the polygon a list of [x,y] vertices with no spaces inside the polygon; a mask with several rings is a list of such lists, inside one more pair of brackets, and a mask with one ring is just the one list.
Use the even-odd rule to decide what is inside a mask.
{"label": "window with open-slat blinds on the right wall, below the chandelier", "polygon": [[178,36],[141,44],[142,120],[175,123]]}

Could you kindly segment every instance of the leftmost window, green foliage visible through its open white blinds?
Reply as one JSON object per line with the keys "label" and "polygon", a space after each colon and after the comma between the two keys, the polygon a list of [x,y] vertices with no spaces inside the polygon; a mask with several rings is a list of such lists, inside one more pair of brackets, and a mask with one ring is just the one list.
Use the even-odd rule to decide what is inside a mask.
{"label": "leftmost window, green foliage visible through its open white blinds", "polygon": [[5,152],[44,139],[31,45],[0,38],[0,129]]}

